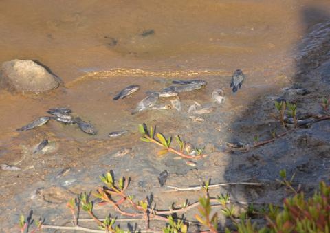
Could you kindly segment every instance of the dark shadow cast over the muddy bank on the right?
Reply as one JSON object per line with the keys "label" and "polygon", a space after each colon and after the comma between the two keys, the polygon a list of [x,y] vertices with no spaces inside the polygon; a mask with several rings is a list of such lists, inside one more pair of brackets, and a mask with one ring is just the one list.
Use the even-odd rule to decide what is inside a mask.
{"label": "dark shadow cast over the muddy bank on the right", "polygon": [[[254,144],[272,139],[271,132],[283,133],[280,122],[271,117],[276,113],[274,101],[285,98],[297,104],[298,115],[319,114],[322,97],[329,98],[330,74],[330,14],[320,8],[307,7],[301,13],[305,24],[305,35],[294,48],[296,70],[291,77],[295,88],[308,89],[303,95],[289,89],[281,93],[264,93],[250,103],[248,111],[239,115],[232,129],[231,142]],[[248,80],[247,80],[248,81]],[[293,127],[293,126],[289,126]],[[329,183],[330,169],[330,122],[317,122],[306,128],[297,129],[270,144],[251,148],[247,153],[234,152],[225,169],[226,181],[260,181],[262,188],[231,186],[230,197],[250,203],[281,203],[288,195],[285,188],[276,184],[279,171],[287,170],[291,177],[296,173],[294,185],[302,184],[303,190],[314,192],[319,181]]]}

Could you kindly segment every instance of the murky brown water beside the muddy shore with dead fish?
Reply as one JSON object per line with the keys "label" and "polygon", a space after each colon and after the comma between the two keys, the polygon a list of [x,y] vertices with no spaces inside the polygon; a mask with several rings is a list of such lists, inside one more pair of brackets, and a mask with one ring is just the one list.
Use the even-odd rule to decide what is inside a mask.
{"label": "murky brown water beside the muddy shore with dead fish", "polygon": [[[317,2],[317,3],[316,3]],[[107,133],[132,128],[148,113],[129,113],[144,91],[166,87],[172,78],[203,78],[210,88],[187,94],[210,102],[225,87],[227,108],[246,106],[265,90],[289,82],[296,44],[305,32],[303,9],[329,8],[328,1],[1,1],[0,63],[39,60],[65,87],[40,95],[0,91],[3,144],[14,130],[67,106]],[[311,16],[313,20],[313,16]],[[154,34],[142,36],[147,30]],[[243,91],[232,96],[232,71],[247,74]],[[142,89],[118,104],[113,95],[126,85]],[[192,96],[191,96],[192,95]],[[184,101],[184,100],[183,100]],[[155,113],[156,115],[160,113]],[[48,127],[63,137],[89,137],[76,127]]]}

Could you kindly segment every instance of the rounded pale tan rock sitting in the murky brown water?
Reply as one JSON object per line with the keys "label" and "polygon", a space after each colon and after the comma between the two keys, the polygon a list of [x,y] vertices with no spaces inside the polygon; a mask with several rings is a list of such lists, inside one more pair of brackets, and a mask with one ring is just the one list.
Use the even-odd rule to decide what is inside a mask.
{"label": "rounded pale tan rock sitting in the murky brown water", "polygon": [[1,85],[15,91],[35,93],[58,87],[58,77],[33,60],[10,60],[2,64]]}

